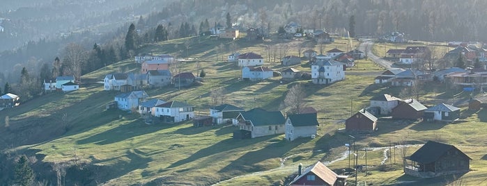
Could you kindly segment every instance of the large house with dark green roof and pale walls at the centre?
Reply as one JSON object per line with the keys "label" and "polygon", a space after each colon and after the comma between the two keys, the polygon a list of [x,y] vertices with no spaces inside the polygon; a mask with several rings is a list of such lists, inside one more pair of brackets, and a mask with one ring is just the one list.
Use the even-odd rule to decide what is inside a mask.
{"label": "large house with dark green roof and pale walls at the centre", "polygon": [[240,112],[237,116],[240,130],[233,132],[233,138],[254,138],[265,135],[284,134],[284,116],[279,111],[254,108]]}

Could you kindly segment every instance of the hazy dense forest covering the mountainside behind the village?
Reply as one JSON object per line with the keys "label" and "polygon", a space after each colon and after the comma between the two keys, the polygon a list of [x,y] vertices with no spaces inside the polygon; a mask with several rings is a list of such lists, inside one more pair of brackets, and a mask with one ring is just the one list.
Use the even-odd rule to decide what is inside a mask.
{"label": "hazy dense forest covering the mountainside behind the village", "polygon": [[[344,35],[354,17],[356,35],[400,31],[410,40],[482,42],[487,22],[481,19],[485,11],[480,8],[485,6],[486,1],[433,0],[12,2],[0,9],[5,28],[0,33],[5,50],[0,52],[0,85],[19,87],[22,69],[34,85],[63,74],[79,79],[134,56],[146,43],[198,35],[217,23],[226,25],[226,15],[244,30],[263,27],[271,33],[297,22],[303,28]],[[134,45],[127,49],[125,37],[132,23]],[[79,55],[76,62],[70,61],[73,49]]]}

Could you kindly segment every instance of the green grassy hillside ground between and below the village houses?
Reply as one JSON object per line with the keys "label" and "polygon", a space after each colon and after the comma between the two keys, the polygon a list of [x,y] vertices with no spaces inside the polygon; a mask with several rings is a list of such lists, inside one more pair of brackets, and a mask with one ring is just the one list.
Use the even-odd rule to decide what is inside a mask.
{"label": "green grassy hillside ground between and below the village houses", "polygon": [[[284,135],[233,140],[232,132],[236,129],[233,126],[194,128],[190,122],[147,125],[135,114],[105,110],[105,105],[113,101],[118,92],[103,91],[101,83],[91,83],[76,92],[47,94],[27,101],[18,108],[1,111],[0,118],[10,118],[9,126],[3,126],[0,130],[0,139],[3,141],[1,149],[10,152],[15,150],[15,153],[35,153],[42,162],[89,165],[89,170],[97,173],[90,178],[98,184],[210,185],[240,176],[222,185],[272,185],[284,182],[286,176],[296,171],[300,162],[306,166],[317,160],[328,161],[341,156],[346,150],[343,144],[350,139],[346,133],[337,133],[337,128],[343,127],[337,121],[350,116],[351,103],[353,112],[356,112],[369,104],[371,96],[384,93],[398,95],[401,92],[399,88],[371,85],[373,78],[382,69],[366,60],[360,60],[360,69],[349,69],[345,81],[328,86],[313,85],[308,81],[281,84],[279,77],[261,82],[242,82],[238,81],[240,69],[235,64],[224,62],[231,51],[219,51],[216,48],[220,44],[228,46],[233,41],[193,39],[194,44],[186,51],[184,43],[188,39],[146,46],[142,52],[196,58],[196,61],[200,61],[199,65],[196,62],[184,62],[180,69],[194,74],[204,69],[206,78],[203,83],[181,90],[174,87],[146,90],[150,98],[187,101],[196,105],[196,113],[208,113],[211,106],[210,91],[223,87],[226,103],[247,110],[255,107],[281,110],[286,90],[293,83],[303,83],[307,105],[318,110],[320,126],[317,137],[295,142],[287,142]],[[282,40],[235,42],[240,47],[239,51],[254,51],[263,54],[264,58],[267,58],[264,55],[266,46],[288,43]],[[297,42],[300,41],[291,41],[290,45]],[[325,51],[335,47],[345,50],[346,43],[347,40],[337,39],[325,45]],[[314,47],[319,51],[319,46]],[[297,49],[290,49],[287,53],[297,56]],[[268,62],[267,65],[271,69],[284,69],[279,62]],[[304,61],[296,68],[309,71],[309,65]],[[125,60],[82,78],[101,81],[105,74],[114,71],[138,70],[133,60]],[[434,90],[433,87],[431,90]],[[434,101],[440,95],[424,94],[424,100]],[[480,183],[481,180],[475,179],[475,176],[487,174],[487,170],[482,168],[484,160],[479,159],[484,155],[481,153],[483,149],[473,151],[474,148],[470,146],[476,146],[487,138],[481,135],[484,129],[469,130],[482,128],[486,119],[478,116],[481,116],[480,112],[472,112],[460,124],[446,126],[381,121],[378,132],[357,136],[357,144],[386,146],[389,141],[417,143],[440,140],[465,145],[468,146],[465,151],[474,159],[472,169],[477,171],[471,171],[462,178],[465,177],[468,183]],[[467,133],[470,134],[468,137],[465,135]],[[380,171],[378,168],[382,153],[374,151],[369,158],[369,163],[376,169],[371,168],[371,175],[364,177],[362,174],[359,180],[384,184],[412,179],[402,175],[400,160],[395,164],[396,169]],[[348,167],[347,163],[341,160],[330,164],[330,167],[341,170]]]}

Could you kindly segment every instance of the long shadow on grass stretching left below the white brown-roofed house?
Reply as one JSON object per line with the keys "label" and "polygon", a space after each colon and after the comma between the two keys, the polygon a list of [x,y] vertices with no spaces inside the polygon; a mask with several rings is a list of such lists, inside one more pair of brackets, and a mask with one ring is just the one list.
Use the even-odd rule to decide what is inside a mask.
{"label": "long shadow on grass stretching left below the white brown-roofed house", "polygon": [[82,140],[77,140],[77,144],[112,144],[121,142],[123,140],[130,139],[139,135],[145,135],[148,133],[154,133],[157,130],[161,130],[160,126],[169,128],[169,125],[146,125],[143,121],[135,120],[128,124],[120,125],[110,130],[105,130],[102,133],[86,137]]}

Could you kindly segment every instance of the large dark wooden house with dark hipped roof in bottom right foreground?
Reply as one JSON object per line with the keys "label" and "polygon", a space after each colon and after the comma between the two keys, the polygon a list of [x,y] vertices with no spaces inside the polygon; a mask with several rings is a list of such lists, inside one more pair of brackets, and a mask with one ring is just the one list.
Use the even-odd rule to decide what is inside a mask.
{"label": "large dark wooden house with dark hipped roof in bottom right foreground", "polygon": [[428,141],[404,158],[404,173],[421,178],[463,174],[470,171],[470,160],[472,158],[453,145]]}

